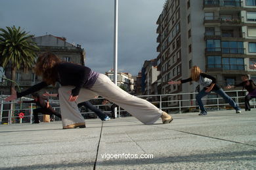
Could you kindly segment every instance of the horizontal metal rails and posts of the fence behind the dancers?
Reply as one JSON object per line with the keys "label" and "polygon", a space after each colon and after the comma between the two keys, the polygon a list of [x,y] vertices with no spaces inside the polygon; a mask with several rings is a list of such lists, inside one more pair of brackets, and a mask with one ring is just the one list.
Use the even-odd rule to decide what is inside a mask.
{"label": "horizontal metal rails and posts of the fence behind the dancers", "polygon": [[[238,104],[242,104],[243,102],[240,102],[241,99],[244,98],[244,94],[240,94],[243,93],[245,91],[242,90],[238,90],[238,91],[225,91],[226,93],[236,93],[235,96],[230,96],[231,98],[233,98],[233,100],[235,100]],[[182,99],[182,100],[169,100],[170,96],[177,96],[177,95],[195,95],[198,93],[175,93],[175,94],[165,94],[165,95],[140,95],[138,97],[140,98],[152,98],[152,104],[158,106],[158,108],[160,108],[161,110],[173,110],[172,113],[179,113],[181,114],[182,110],[186,109],[186,110],[194,110],[194,108],[198,107],[196,104],[196,99],[192,98],[192,99]],[[214,93],[211,93],[214,94]],[[167,98],[167,100],[165,100]],[[95,98],[93,100],[102,100],[104,98]],[[222,101],[223,98],[220,97],[215,97],[215,98],[202,98],[203,102],[206,102],[205,104],[205,108],[215,108],[215,110],[221,110],[224,109],[225,105],[228,105],[226,102],[220,102],[220,100]],[[59,100],[50,100],[49,101],[51,104],[56,104],[59,103]],[[208,103],[207,103],[208,102]],[[4,100],[2,99],[0,102],[0,123],[3,122],[3,119],[8,119],[9,121],[6,122],[8,124],[11,123],[15,123],[14,119],[18,118],[18,116],[14,115],[17,114],[18,112],[22,111],[22,112],[26,112],[24,118],[27,119],[28,122],[32,123],[32,106],[34,106],[34,104],[30,104],[30,108],[28,108],[28,104],[26,103],[22,103],[22,106],[25,106],[24,108],[21,109],[12,109],[12,110],[4,110],[4,105],[5,104],[16,104],[16,101],[14,102],[4,102]],[[253,104],[253,107],[255,108],[255,98],[253,98],[253,100],[251,100],[251,104]],[[95,106],[97,108],[102,108],[102,106],[110,106],[111,104],[96,104]],[[214,106],[214,107],[213,107]],[[59,109],[59,106],[54,106],[54,109]],[[175,111],[176,110],[176,111]],[[8,116],[3,116],[3,112],[8,112]],[[105,113],[110,113],[110,110],[102,110],[102,112]],[[121,117],[121,112],[125,112],[125,110],[121,110],[120,108],[118,109],[118,117]],[[199,112],[199,111],[198,111]],[[86,115],[86,114],[93,114],[93,112],[82,112],[81,114]],[[16,121],[16,122],[20,122],[20,121]]]}

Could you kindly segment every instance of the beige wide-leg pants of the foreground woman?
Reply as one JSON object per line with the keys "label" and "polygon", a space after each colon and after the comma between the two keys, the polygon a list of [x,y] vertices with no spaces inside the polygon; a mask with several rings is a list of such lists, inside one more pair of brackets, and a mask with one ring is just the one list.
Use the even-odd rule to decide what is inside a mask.
{"label": "beige wide-leg pants of the foreground woman", "polygon": [[74,86],[62,86],[58,89],[63,126],[85,122],[77,104],[90,100],[95,96],[102,96],[114,102],[144,124],[156,122],[163,114],[163,111],[147,100],[130,95],[120,89],[104,74],[98,75],[95,85],[91,89],[82,88],[75,102],[68,101],[72,89],[74,89]]}

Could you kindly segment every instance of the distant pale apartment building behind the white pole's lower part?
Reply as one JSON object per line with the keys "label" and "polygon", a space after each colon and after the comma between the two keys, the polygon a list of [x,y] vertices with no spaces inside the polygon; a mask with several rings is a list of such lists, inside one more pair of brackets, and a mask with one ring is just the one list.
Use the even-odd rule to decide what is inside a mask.
{"label": "distant pale apartment building behind the white pole's lower part", "polygon": [[[114,70],[109,70],[105,73],[112,81],[114,81]],[[134,93],[135,81],[133,76],[129,73],[118,72],[117,73],[117,85],[125,91]]]}

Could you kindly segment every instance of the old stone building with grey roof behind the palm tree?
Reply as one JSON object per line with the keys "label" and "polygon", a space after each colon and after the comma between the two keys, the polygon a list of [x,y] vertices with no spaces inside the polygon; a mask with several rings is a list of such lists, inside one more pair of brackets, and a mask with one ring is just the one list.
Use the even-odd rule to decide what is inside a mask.
{"label": "old stone building with grey roof behind the palm tree", "polygon": [[[39,37],[33,37],[32,40],[37,43],[40,51],[37,53],[52,52],[60,57],[61,60],[66,62],[73,62],[77,64],[85,64],[85,51],[81,48],[80,45],[73,45],[68,43],[64,37],[56,37],[54,35],[43,35]],[[7,69],[5,72],[7,77],[11,77],[11,69]],[[20,86],[22,90],[28,89],[32,85],[39,83],[41,77],[35,75],[33,70],[29,70],[24,73],[22,70],[17,70],[16,72],[16,83]],[[49,86],[47,91],[50,93],[58,93],[57,84],[56,87]],[[0,85],[1,94],[8,95],[10,91],[10,82],[2,81]],[[45,91],[45,90],[44,90]]]}

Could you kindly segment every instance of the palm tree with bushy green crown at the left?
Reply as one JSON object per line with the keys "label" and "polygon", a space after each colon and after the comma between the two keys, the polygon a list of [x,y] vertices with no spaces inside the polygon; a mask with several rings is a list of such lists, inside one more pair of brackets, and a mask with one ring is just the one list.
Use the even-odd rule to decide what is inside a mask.
{"label": "palm tree with bushy green crown at the left", "polygon": [[0,66],[11,66],[11,88],[15,87],[16,70],[27,71],[35,64],[36,51],[39,48],[29,35],[20,27],[0,28]]}

